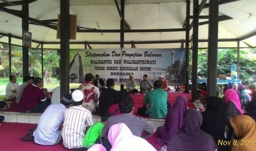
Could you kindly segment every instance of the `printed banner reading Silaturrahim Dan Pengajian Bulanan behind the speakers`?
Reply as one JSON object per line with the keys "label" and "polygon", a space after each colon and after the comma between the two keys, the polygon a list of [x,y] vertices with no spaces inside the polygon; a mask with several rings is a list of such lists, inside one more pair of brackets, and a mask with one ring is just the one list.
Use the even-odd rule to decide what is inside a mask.
{"label": "printed banner reading Silaturrahim Dan Pengajian Bulanan behind the speakers", "polygon": [[71,49],[69,67],[70,83],[83,83],[91,73],[105,82],[112,78],[115,84],[126,84],[133,73],[137,84],[143,74],[152,83],[163,75],[169,85],[184,84],[185,49]]}

